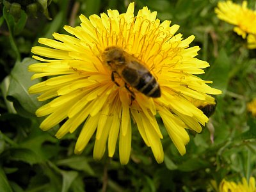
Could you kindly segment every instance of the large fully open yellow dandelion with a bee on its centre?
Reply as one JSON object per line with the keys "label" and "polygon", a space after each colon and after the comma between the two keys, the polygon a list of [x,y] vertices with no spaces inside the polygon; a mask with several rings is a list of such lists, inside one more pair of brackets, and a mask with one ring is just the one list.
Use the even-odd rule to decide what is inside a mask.
{"label": "large fully open yellow dandelion with a bee on its centre", "polygon": [[[48,115],[40,128],[47,131],[61,122],[56,137],[62,138],[81,125],[76,154],[83,152],[95,134],[95,159],[102,158],[106,145],[108,156],[113,157],[118,141],[120,162],[127,164],[131,153],[131,124],[136,124],[157,163],[161,163],[163,135],[156,120],[158,114],[184,155],[189,141],[186,129],[200,132],[201,125],[208,122],[207,116],[191,100],[214,104],[214,98],[208,94],[221,91],[206,84],[211,81],[195,76],[204,73],[202,68],[209,67],[206,61],[195,58],[200,48],[189,47],[195,36],[184,39],[181,34],[175,35],[179,26],[170,26],[169,20],[161,23],[156,15],[144,7],[134,17],[134,3],[131,3],[122,14],[108,10],[108,14],[102,13],[100,17],[91,15],[87,19],[81,15],[80,26],[64,27],[73,36],[54,33],[55,40],[40,38],[38,42],[47,47],[36,46],[31,52],[42,63],[30,65],[29,71],[35,72],[32,79],[52,76],[29,88],[29,93],[41,94],[38,100],[51,99],[36,111],[37,116]],[[106,51],[113,46],[126,56],[119,64],[123,62],[125,67],[125,63],[135,60],[141,63],[141,68],[147,68],[159,84],[161,97],[147,97],[143,94],[145,90],[136,90],[135,86],[124,83],[120,73],[113,73],[108,66],[111,61],[105,58]],[[152,85],[152,78],[144,80]]]}

